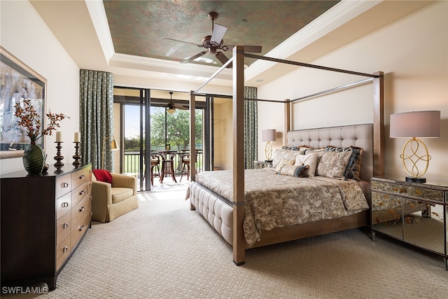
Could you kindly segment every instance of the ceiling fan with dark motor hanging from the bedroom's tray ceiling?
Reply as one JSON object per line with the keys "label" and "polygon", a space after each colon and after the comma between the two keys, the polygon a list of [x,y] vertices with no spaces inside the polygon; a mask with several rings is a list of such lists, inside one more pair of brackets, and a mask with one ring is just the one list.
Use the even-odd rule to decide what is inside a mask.
{"label": "ceiling fan with dark motor hanging from the bedroom's tray ceiling", "polygon": [[[200,53],[197,53],[196,55],[193,55],[191,57],[188,57],[186,60],[183,60],[181,63],[188,63],[192,62],[198,57],[201,57],[202,55],[205,55],[207,53],[211,53],[218,58],[218,60],[225,64],[225,62],[228,62],[228,57],[224,55],[223,52],[220,52],[218,50],[227,51],[234,46],[226,46],[224,44],[224,34],[227,31],[227,27],[219,24],[215,24],[215,20],[218,18],[218,13],[211,12],[209,13],[209,20],[211,20],[211,35],[204,36],[201,43],[190,43],[188,41],[179,41],[176,39],[168,39],[169,41],[179,41],[180,43],[188,43],[190,45],[195,45],[200,48],[206,48],[207,50],[202,51]],[[244,51],[251,52],[251,53],[261,53],[261,46],[244,46]],[[232,64],[228,64],[228,68],[232,67]]]}

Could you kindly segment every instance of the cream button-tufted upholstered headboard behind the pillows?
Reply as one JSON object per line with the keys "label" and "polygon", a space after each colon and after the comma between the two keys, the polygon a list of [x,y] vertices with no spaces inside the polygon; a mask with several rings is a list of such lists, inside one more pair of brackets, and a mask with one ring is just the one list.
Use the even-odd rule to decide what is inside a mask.
{"label": "cream button-tufted upholstered headboard behind the pillows", "polygon": [[287,133],[287,140],[288,146],[363,148],[360,179],[369,181],[373,176],[373,124],[294,130]]}

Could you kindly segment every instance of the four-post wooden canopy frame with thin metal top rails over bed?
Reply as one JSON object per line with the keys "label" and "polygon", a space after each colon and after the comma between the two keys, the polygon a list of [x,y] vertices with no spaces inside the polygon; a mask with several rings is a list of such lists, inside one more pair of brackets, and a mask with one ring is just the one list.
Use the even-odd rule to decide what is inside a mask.
{"label": "four-post wooden canopy frame with thin metal top rails over bed", "polygon": [[[236,265],[244,264],[245,250],[247,249],[246,240],[244,239],[243,221],[244,221],[244,57],[251,57],[258,60],[267,60],[271,62],[295,65],[297,67],[309,67],[321,69],[323,71],[335,71],[344,74],[353,74],[365,76],[367,78],[353,83],[340,85],[335,88],[316,92],[311,95],[299,97],[297,99],[286,99],[279,102],[284,105],[284,130],[290,131],[291,126],[291,104],[304,99],[318,97],[321,95],[352,88],[365,83],[372,83],[373,95],[373,165],[374,176],[384,174],[384,74],[381,71],[374,74],[365,74],[357,71],[347,71],[344,69],[335,69],[331,67],[322,67],[314,64],[306,64],[302,62],[294,62],[290,60],[281,60],[272,57],[253,55],[244,53],[244,46],[235,46],[233,55],[228,62],[218,69],[213,75],[205,81],[200,88],[190,92],[190,150],[195,151],[195,95],[210,83],[223,69],[232,64],[232,99],[233,99],[233,261]],[[286,134],[285,134],[286,138]],[[286,140],[285,140],[286,141]],[[285,143],[286,144],[286,143]],[[190,156],[191,165],[195,165],[195,155]],[[195,167],[190,169],[190,177],[195,181]],[[194,207],[191,207],[194,209]],[[241,228],[241,229],[239,229]]]}

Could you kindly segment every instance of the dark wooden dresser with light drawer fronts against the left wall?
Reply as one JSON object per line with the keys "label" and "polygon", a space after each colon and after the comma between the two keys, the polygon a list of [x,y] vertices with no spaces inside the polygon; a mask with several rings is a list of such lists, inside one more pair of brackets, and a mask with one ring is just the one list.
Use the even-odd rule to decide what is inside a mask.
{"label": "dark wooden dresser with light drawer fronts against the left wall", "polygon": [[92,166],[1,175],[1,284],[56,279],[90,227]]}

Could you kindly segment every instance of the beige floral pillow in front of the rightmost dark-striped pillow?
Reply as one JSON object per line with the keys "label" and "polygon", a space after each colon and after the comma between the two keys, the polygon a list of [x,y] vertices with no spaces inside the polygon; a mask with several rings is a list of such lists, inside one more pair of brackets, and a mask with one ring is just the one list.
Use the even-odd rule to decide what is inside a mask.
{"label": "beige floral pillow in front of the rightmost dark-striped pillow", "polygon": [[325,151],[317,165],[317,175],[332,179],[344,179],[344,172],[350,156],[351,151]]}

